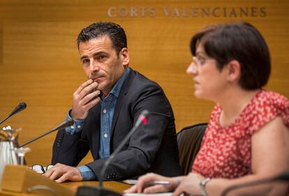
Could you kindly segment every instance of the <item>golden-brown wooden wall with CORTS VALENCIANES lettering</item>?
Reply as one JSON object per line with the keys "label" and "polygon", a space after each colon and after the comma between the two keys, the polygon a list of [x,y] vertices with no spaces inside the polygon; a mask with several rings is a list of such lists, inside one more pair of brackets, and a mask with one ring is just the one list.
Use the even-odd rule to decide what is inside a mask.
{"label": "golden-brown wooden wall with CORTS VALENCIANES lettering", "polygon": [[[194,98],[185,73],[191,36],[208,24],[245,20],[258,27],[272,54],[266,88],[289,97],[289,1],[119,2],[0,1],[0,119],[18,103],[27,103],[26,110],[1,125],[22,127],[20,144],[64,120],[73,91],[86,80],[75,39],[82,28],[100,20],[126,29],[130,66],[163,86],[177,130],[208,121],[213,107]],[[50,163],[54,137],[29,144],[30,165]]]}

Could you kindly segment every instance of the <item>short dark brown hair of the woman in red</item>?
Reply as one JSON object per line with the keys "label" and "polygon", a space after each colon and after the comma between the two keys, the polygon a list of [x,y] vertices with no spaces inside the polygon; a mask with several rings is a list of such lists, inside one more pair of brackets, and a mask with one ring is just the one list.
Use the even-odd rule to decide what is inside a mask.
{"label": "short dark brown hair of the woman in red", "polygon": [[191,53],[201,43],[207,55],[216,59],[221,71],[225,64],[241,64],[239,84],[243,89],[261,89],[269,80],[269,49],[260,32],[246,22],[212,25],[196,33],[191,40]]}

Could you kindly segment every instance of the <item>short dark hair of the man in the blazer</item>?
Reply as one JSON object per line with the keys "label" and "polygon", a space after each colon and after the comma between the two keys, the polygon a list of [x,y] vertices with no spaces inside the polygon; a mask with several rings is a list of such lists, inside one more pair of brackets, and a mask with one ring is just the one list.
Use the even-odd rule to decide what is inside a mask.
{"label": "short dark hair of the man in the blazer", "polygon": [[119,24],[113,22],[95,22],[90,24],[89,27],[82,29],[77,37],[77,47],[79,49],[81,42],[87,42],[105,35],[110,37],[112,47],[114,47],[117,54],[119,54],[121,49],[127,47],[126,32]]}

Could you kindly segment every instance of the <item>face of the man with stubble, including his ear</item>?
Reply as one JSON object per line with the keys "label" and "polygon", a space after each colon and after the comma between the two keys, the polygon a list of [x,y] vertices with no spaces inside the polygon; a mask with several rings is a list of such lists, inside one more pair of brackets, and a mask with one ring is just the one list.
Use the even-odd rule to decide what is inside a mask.
{"label": "face of the man with stubble, including his ear", "polygon": [[128,66],[127,48],[117,54],[108,35],[81,42],[80,61],[84,73],[98,83],[98,90],[108,95]]}

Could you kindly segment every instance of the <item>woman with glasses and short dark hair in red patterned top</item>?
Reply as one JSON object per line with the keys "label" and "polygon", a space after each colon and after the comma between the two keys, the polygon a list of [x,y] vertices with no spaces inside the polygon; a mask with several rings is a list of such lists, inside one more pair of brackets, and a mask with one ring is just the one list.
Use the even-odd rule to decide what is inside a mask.
{"label": "woman with glasses and short dark hair in red patterned top", "polygon": [[[216,103],[192,172],[141,176],[126,193],[222,195],[232,186],[289,171],[289,100],[262,89],[271,70],[267,44],[248,23],[219,24],[191,40],[195,96]],[[165,160],[163,160],[165,161]],[[147,181],[170,185],[145,186]],[[288,195],[288,183],[263,183],[228,195]]]}

